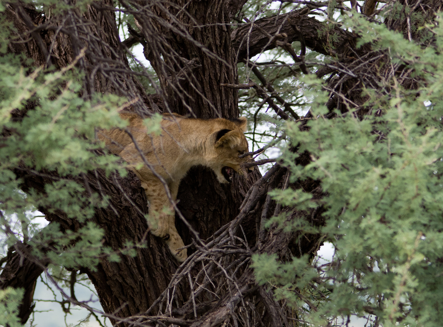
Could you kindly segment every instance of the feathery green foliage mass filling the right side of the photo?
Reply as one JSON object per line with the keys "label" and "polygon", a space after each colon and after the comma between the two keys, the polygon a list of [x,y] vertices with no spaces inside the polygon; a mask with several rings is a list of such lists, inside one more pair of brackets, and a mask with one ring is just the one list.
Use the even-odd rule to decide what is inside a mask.
{"label": "feathery green foliage mass filling the right side of the photo", "polygon": [[[311,162],[296,165],[288,150],[283,159],[292,182],[321,181],[325,195],[320,202],[303,189],[276,190],[271,195],[298,210],[323,207],[326,223],[317,232],[334,245],[335,255],[333,262],[322,266],[307,257],[282,263],[275,256],[255,256],[256,278],[274,286],[276,298],[287,300],[314,326],[326,326],[334,319],[346,323],[348,316],[368,312],[372,318],[367,326],[440,326],[442,21],[432,31],[435,47],[408,42],[355,13],[345,25],[363,35],[360,45],[370,42],[373,49],[389,54],[393,64],[408,65],[418,87],[404,89],[395,76],[381,79],[385,93],[365,90],[364,104],[381,115],[360,119],[353,112],[337,112],[336,118],[325,119],[328,95],[322,91],[322,81],[302,79],[306,96],[316,94],[311,106],[314,119],[307,123],[309,131],[301,131],[293,122],[285,131],[298,153],[311,154]],[[313,232],[299,222],[292,228],[302,234]]]}

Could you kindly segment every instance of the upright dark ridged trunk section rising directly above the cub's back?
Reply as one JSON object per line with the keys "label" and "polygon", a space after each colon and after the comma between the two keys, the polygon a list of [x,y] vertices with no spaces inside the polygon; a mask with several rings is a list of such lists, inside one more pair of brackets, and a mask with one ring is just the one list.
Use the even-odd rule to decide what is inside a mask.
{"label": "upright dark ridged trunk section rising directly above the cub's back", "polygon": [[[220,86],[237,83],[225,1],[176,1],[174,5],[178,7],[154,7],[164,23],[149,19],[150,8],[135,14],[147,40],[145,57],[159,76],[170,110],[199,118],[237,118],[237,91]],[[183,6],[190,15],[178,10]],[[159,34],[162,38],[156,40]]]}

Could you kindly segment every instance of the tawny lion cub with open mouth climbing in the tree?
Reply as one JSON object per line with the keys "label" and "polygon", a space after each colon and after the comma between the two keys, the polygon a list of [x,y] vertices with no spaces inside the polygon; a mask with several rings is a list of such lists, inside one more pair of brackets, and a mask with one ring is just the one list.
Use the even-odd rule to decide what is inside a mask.
{"label": "tawny lion cub with open mouth climbing in the tree", "polygon": [[[109,150],[120,155],[140,178],[149,202],[148,226],[152,234],[163,238],[179,262],[187,258],[183,240],[175,229],[174,209],[167,197],[164,185],[140,156],[163,177],[173,201],[182,178],[194,165],[203,165],[214,170],[220,183],[231,181],[234,171],[244,174],[240,164],[250,156],[239,158],[248,152],[248,142],[243,132],[246,118],[234,121],[227,119],[194,119],[180,115],[164,114],[161,135],[148,135],[143,120],[134,113],[120,113],[128,120],[128,131],[136,140],[136,148],[127,132],[120,129],[102,131],[101,140]],[[250,168],[251,170],[253,167]],[[163,210],[163,207],[169,210]],[[165,212],[166,211],[166,212]]]}

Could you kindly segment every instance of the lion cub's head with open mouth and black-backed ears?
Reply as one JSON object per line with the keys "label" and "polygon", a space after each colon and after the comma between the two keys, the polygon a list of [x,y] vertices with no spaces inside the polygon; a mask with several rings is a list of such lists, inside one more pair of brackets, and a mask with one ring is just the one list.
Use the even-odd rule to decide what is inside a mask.
{"label": "lion cub's head with open mouth and black-backed ears", "polygon": [[[226,119],[218,119],[221,123],[218,126],[225,127],[215,132],[211,138],[214,145],[214,157],[211,158],[209,165],[217,175],[220,183],[229,183],[232,180],[234,172],[244,174],[245,169],[241,167],[242,163],[251,160],[251,156],[240,158],[242,154],[249,152],[248,142],[246,141],[246,118],[240,117],[233,122]],[[225,126],[222,126],[225,125]],[[250,167],[252,171],[254,167]]]}

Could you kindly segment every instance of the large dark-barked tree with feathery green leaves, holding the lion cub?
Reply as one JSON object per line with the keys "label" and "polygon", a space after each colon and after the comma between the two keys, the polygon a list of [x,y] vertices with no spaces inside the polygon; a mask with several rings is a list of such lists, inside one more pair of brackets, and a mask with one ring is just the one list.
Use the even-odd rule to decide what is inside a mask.
{"label": "large dark-barked tree with feathery green leaves, holding the lion cub", "polygon": [[[48,265],[85,273],[120,325],[439,323],[441,2],[269,4],[1,4],[4,323],[27,321]],[[134,63],[136,43],[152,70]],[[274,58],[252,60],[265,51]],[[190,171],[176,215],[190,257],[178,268],[148,233],[140,181],[97,140],[124,128],[123,108],[152,131],[161,112],[241,110],[254,146],[270,135],[264,119],[270,145],[287,142],[256,162],[278,161],[264,176],[224,186]],[[35,208],[42,230],[29,224]],[[325,241],[336,255],[319,265]]]}

